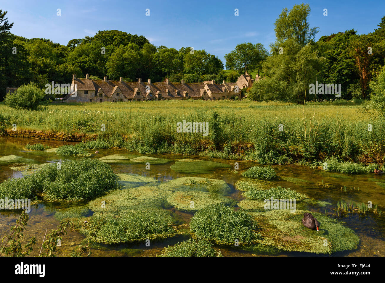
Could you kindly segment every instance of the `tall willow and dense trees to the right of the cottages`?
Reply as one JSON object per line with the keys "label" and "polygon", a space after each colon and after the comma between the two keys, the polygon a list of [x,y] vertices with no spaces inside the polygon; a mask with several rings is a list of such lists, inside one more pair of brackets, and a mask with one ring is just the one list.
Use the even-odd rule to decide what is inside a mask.
{"label": "tall willow and dense trees to the right of the cottages", "polygon": [[276,42],[262,63],[264,79],[254,83],[251,100],[335,99],[333,93],[311,94],[309,85],[315,82],[341,84],[344,99],[366,99],[373,94],[370,83],[385,59],[385,16],[373,33],[346,30],[315,42],[318,28],[310,27],[309,13],[308,4],[283,9],[275,22]]}

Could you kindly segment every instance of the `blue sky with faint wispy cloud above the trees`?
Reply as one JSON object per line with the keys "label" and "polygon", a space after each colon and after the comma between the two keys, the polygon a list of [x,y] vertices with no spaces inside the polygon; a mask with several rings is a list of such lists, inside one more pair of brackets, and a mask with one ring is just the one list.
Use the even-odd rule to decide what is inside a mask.
{"label": "blue sky with faint wispy cloud above the trees", "polygon": [[[238,43],[262,43],[266,49],[275,41],[274,22],[282,9],[301,1],[124,1],[0,0],[14,22],[12,33],[26,38],[49,38],[67,45],[73,38],[92,36],[98,30],[121,30],[144,35],[156,46],[205,49],[223,60]],[[308,0],[310,25],[322,35],[347,29],[372,32],[385,15],[385,2],[357,0]],[[57,16],[57,9],[61,16]],[[150,15],[146,16],[146,9]],[[234,15],[234,9],[239,16]],[[328,15],[323,16],[323,9]],[[224,61],[224,60],[223,60]]]}

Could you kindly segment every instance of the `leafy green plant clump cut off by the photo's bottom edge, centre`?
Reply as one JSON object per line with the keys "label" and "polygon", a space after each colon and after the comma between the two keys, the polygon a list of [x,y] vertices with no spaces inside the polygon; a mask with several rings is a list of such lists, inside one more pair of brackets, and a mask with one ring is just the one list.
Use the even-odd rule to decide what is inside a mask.
{"label": "leafy green plant clump cut off by the photo's bottom edge, centre", "polygon": [[167,246],[161,251],[159,256],[222,256],[211,247],[211,243],[204,240],[195,241],[188,239],[174,246]]}

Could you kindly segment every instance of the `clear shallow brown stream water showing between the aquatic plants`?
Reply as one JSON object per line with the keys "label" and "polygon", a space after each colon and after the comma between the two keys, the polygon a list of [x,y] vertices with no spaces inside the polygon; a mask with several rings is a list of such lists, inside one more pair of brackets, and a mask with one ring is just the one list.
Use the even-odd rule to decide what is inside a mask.
{"label": "clear shallow brown stream water showing between the aquatic plants", "polygon": [[[0,137],[0,156],[4,155],[17,155],[25,158],[32,158],[39,161],[39,163],[45,162],[57,162],[64,161],[71,158],[60,158],[60,156],[54,154],[40,153],[24,151],[22,147],[27,143],[43,143],[52,147],[57,147],[63,144],[71,144],[69,142],[60,141],[40,141],[31,140],[27,138],[6,138]],[[92,152],[92,151],[90,151]],[[100,158],[105,155],[128,153],[126,150],[109,149],[99,150],[98,154],[93,153],[90,158]],[[254,166],[256,163],[250,161],[236,161],[236,160],[221,160],[216,158],[208,158],[202,156],[182,156],[182,155],[147,155],[160,158],[166,158],[169,160],[180,160],[184,158],[198,158],[202,160],[218,161],[234,166],[234,162],[239,163],[239,171],[246,170],[247,168]],[[214,172],[206,174],[186,174],[172,171],[170,166],[173,164],[167,163],[164,165],[151,165],[151,170],[146,170],[144,164],[135,165],[115,165],[111,164],[115,173],[135,173],[142,176],[153,177],[159,181],[167,181],[184,176],[196,176],[212,179],[221,179],[226,181],[231,188],[234,187],[234,183],[244,179],[240,174],[234,174],[229,172],[228,168],[218,168]],[[12,165],[0,165],[0,181],[6,180],[11,177],[21,177],[22,174],[18,171],[10,169]],[[342,173],[330,173],[323,170],[311,169],[306,166],[295,165],[273,165],[272,166],[279,177],[291,177],[307,180],[308,183],[301,183],[296,185],[284,180],[273,181],[275,185],[283,187],[290,187],[303,193],[311,198],[315,198],[318,201],[326,201],[331,203],[327,206],[311,206],[307,207],[310,211],[316,211],[325,213],[327,211],[330,217],[334,217],[333,208],[336,207],[337,202],[342,198],[346,202],[350,200],[356,202],[372,201],[373,205],[378,204],[378,208],[385,211],[385,187],[379,186],[372,179],[376,181],[385,182],[385,176],[375,174],[360,174],[360,175],[347,175]],[[322,185],[322,183],[324,185]],[[326,187],[326,184],[328,184]],[[346,191],[341,187],[346,186]],[[352,187],[352,188],[351,188]],[[236,201],[243,200],[244,197],[241,191],[233,190],[231,198]],[[31,255],[39,255],[40,247],[45,231],[47,233],[50,230],[55,229],[59,224],[59,220],[54,217],[55,211],[60,208],[67,207],[68,204],[62,203],[45,203],[39,205],[33,205],[32,210],[29,213],[30,220],[28,222],[27,229],[24,233],[24,238],[28,239],[32,236],[36,237],[35,250]],[[180,223],[185,223],[188,228],[189,219],[192,214],[183,211],[176,210],[174,208],[169,209],[173,216],[179,220]],[[20,211],[1,211],[0,212],[0,236],[3,237],[8,234],[9,229],[15,224],[15,220],[18,219]],[[367,215],[359,216],[357,214],[348,215],[343,218],[339,218],[340,221],[344,221],[346,226],[353,229],[360,238],[360,245],[357,250],[334,253],[333,256],[385,256],[385,215],[381,217],[368,213]],[[67,235],[63,237],[61,255],[68,255],[69,251],[75,246],[79,245],[80,241],[84,237],[75,232],[68,231]],[[173,245],[178,241],[185,240],[185,236],[179,236],[176,238],[168,239],[166,241],[159,241],[151,243],[151,247],[146,247],[144,243],[142,245],[100,245],[92,248],[93,256],[154,256],[167,245]],[[220,249],[224,256],[253,256],[251,252],[232,250],[231,248],[215,247]],[[308,253],[288,253],[283,252],[278,256],[309,256],[313,254]]]}

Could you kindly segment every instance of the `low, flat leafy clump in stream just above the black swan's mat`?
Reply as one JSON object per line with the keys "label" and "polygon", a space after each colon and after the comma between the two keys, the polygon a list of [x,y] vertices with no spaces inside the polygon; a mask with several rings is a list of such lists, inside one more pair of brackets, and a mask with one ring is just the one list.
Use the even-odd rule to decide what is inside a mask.
{"label": "low, flat leafy clump in stream just above the black swan's mat", "polygon": [[253,188],[244,192],[243,195],[250,200],[266,200],[270,199],[271,197],[278,200],[294,198],[296,200],[304,200],[307,198],[306,195],[298,193],[296,190],[291,190],[290,188],[282,188],[281,186],[277,186],[269,190]]}

